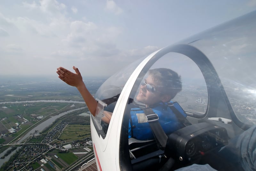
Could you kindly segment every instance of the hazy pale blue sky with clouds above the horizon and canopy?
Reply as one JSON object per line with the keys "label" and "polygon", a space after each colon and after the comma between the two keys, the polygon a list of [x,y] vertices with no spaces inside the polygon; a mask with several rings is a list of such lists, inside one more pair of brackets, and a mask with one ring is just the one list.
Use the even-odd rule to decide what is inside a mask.
{"label": "hazy pale blue sky with clouds above the horizon and canopy", "polygon": [[256,0],[0,2],[0,76],[108,77],[127,64],[254,11]]}

